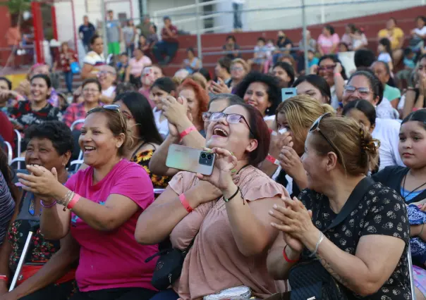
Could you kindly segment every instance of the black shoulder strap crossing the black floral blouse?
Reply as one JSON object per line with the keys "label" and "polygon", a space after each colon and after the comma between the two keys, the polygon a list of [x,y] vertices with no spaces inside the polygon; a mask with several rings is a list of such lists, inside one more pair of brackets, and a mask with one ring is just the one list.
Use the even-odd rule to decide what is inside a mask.
{"label": "black shoulder strap crossing the black floral blouse", "polygon": [[336,215],[336,218],[334,218],[333,222],[327,227],[326,230],[330,230],[333,227],[336,227],[340,223],[345,220],[348,215],[355,209],[356,206],[360,203],[361,199],[363,199],[365,193],[368,192],[368,189],[372,185],[375,184],[375,181],[372,180],[370,177],[364,177],[363,180],[358,182],[358,185],[356,185],[355,189],[353,189],[351,195],[348,198],[348,201],[346,201],[346,204],[343,205],[343,208],[341,209],[340,213]]}

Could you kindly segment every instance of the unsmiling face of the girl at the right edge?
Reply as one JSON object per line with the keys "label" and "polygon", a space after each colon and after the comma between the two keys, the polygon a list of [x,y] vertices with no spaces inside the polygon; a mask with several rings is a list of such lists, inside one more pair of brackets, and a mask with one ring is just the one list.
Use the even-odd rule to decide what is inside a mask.
{"label": "unsmiling face of the girl at the right edge", "polygon": [[408,168],[426,166],[426,130],[419,121],[408,121],[399,130],[398,151]]}

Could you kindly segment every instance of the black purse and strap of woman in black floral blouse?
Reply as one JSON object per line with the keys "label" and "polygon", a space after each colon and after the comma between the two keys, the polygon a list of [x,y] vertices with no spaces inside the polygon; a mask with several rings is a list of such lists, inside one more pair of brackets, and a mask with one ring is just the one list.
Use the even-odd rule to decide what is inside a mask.
{"label": "black purse and strap of woman in black floral blouse", "polygon": [[[345,220],[363,199],[375,181],[365,177],[353,189],[348,201],[324,232],[336,227]],[[324,233],[323,232],[323,233]],[[348,300],[348,289],[343,287],[315,258],[303,261],[290,270],[288,282],[291,286],[290,300]],[[313,298],[315,297],[315,298]]]}

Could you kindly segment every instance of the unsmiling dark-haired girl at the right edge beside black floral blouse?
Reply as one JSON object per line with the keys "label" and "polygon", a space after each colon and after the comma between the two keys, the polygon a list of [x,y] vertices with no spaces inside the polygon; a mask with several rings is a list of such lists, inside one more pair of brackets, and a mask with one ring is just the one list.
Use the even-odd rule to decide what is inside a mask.
{"label": "unsmiling dark-haired girl at the right edge beside black floral blouse", "polygon": [[[426,110],[410,113],[401,123],[398,151],[406,167],[389,166],[373,176],[395,189],[408,205],[415,298],[426,299]],[[416,265],[422,265],[418,268]]]}

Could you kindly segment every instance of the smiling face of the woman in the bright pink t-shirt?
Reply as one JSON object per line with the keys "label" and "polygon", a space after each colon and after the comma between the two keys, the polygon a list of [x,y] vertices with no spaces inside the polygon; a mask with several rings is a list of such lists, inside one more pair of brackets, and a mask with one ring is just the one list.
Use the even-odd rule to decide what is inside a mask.
{"label": "smiling face of the woman in the bright pink t-shirt", "polygon": [[124,134],[114,137],[108,127],[107,115],[100,112],[87,115],[78,139],[84,163],[94,168],[114,159],[123,142]]}

